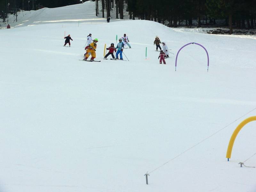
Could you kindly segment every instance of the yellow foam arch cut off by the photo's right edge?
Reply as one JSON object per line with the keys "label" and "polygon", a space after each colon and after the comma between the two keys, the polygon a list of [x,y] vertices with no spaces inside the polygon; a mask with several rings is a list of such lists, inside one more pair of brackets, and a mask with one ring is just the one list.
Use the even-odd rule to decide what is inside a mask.
{"label": "yellow foam arch cut off by the photo's right edge", "polygon": [[247,123],[251,122],[251,121],[256,121],[256,116],[252,116],[249,117],[247,119],[244,119],[244,121],[242,121],[235,129],[235,131],[233,132],[229,143],[228,143],[228,150],[227,150],[227,154],[226,154],[226,158],[228,158],[228,161],[231,157],[231,153],[232,153],[232,148],[236,139],[237,134],[239,133],[239,131],[244,127],[244,125],[246,125]]}

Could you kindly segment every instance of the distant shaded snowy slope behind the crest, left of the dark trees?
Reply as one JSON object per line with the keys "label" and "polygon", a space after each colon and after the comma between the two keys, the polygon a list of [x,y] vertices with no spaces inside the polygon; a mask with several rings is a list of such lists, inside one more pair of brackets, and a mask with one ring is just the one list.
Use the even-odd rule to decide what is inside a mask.
{"label": "distant shaded snowy slope behind the crest, left of the dark trees", "polygon": [[[101,1],[99,2],[99,8],[101,9]],[[115,9],[115,8],[114,8]],[[111,22],[119,21],[113,12],[111,12]],[[125,18],[128,19],[127,12],[124,12]],[[106,12],[105,12],[106,17]],[[64,27],[66,23],[106,23],[107,19],[102,18],[102,12],[99,16],[95,13],[95,2],[86,1],[83,4],[69,5],[65,7],[57,8],[42,8],[37,11],[20,11],[18,12],[18,18],[16,22],[16,16],[9,14],[9,24],[11,28],[24,27],[31,25],[49,24],[49,23],[62,23]],[[7,21],[1,23],[2,27],[6,28]]]}

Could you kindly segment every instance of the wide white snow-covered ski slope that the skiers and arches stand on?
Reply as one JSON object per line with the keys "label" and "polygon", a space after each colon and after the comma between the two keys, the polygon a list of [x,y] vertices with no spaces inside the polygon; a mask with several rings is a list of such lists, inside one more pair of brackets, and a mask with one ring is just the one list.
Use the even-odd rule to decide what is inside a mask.
{"label": "wide white snow-covered ski slope that the skiers and arches stand on", "polygon": [[[236,126],[256,114],[255,39],[106,23],[90,3],[38,10],[25,27],[0,30],[0,191],[255,191],[256,169],[238,163],[255,154],[256,122],[225,158]],[[78,27],[69,21],[79,6],[92,16]],[[101,62],[80,61],[89,33]],[[130,61],[103,60],[104,45],[124,33]],[[174,53],[166,65],[156,35]],[[209,52],[209,72],[195,44],[180,51],[175,71],[176,53],[190,42]]]}

